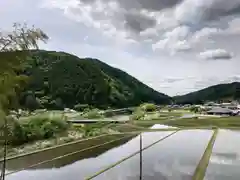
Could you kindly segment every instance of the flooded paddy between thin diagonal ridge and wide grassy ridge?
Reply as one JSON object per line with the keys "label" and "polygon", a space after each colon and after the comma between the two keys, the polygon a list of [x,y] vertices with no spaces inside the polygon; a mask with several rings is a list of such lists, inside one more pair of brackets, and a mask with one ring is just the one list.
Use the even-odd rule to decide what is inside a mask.
{"label": "flooded paddy between thin diagonal ridge and wide grassy ridge", "polygon": [[[212,131],[180,131],[143,151],[143,179],[190,180]],[[139,154],[95,178],[139,179]]]}

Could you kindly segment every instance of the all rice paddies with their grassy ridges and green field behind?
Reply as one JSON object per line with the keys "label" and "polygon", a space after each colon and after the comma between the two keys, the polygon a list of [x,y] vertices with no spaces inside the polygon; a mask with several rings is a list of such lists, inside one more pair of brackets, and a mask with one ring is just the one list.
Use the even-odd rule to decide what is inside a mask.
{"label": "all rice paddies with their grassy ridges and green field behind", "polygon": [[6,179],[240,179],[240,117],[177,111],[121,118],[128,121],[105,124],[112,130],[106,139],[56,148],[55,156],[45,151],[8,161]]}

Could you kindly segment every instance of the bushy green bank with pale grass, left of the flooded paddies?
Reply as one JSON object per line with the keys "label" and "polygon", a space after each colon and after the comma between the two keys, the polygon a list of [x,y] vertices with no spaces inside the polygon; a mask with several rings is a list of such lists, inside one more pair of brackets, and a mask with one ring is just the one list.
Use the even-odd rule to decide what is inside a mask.
{"label": "bushy green bank with pale grass, left of the flooded paddies", "polygon": [[[105,128],[108,124],[102,122],[72,125],[66,120],[61,111],[35,113],[20,119],[8,118],[8,156],[116,132]],[[3,146],[3,137],[0,146]],[[3,148],[0,149],[0,157],[2,155]]]}

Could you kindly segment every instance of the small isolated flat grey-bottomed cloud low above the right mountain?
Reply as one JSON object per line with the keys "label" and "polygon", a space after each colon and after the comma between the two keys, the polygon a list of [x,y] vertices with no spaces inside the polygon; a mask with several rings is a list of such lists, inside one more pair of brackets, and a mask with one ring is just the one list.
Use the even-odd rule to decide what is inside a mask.
{"label": "small isolated flat grey-bottomed cloud low above the right mountain", "polygon": [[231,59],[233,54],[224,49],[214,49],[201,52],[199,56],[204,59]]}

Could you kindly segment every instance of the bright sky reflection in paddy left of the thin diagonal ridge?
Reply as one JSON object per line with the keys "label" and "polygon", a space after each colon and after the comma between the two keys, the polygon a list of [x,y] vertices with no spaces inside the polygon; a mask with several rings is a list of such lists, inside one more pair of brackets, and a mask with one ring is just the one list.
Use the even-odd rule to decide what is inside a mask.
{"label": "bright sky reflection in paddy left of the thin diagonal ridge", "polygon": [[[165,137],[172,132],[157,132],[157,133],[144,133],[143,138],[143,147],[153,143],[156,140]],[[35,170],[26,170],[19,173],[11,174],[7,176],[7,180],[75,180],[75,179],[84,179],[84,177],[90,176],[95,172],[107,167],[110,164],[113,164],[122,158],[136,152],[139,150],[139,137],[136,137],[129,141],[126,144],[123,144],[120,147],[113,148],[104,154],[101,154],[95,158],[84,157],[82,153],[76,154],[73,157],[65,157],[50,163],[41,165]],[[73,150],[74,151],[74,150]],[[88,152],[92,154],[93,151]],[[85,159],[83,159],[85,158]],[[87,159],[86,159],[87,158]],[[71,159],[71,160],[70,160]],[[76,162],[72,159],[78,160]],[[82,160],[79,160],[82,159]],[[66,165],[68,164],[68,165]],[[65,165],[63,167],[60,167]],[[60,168],[56,168],[60,167]],[[45,168],[45,169],[43,169]]]}

